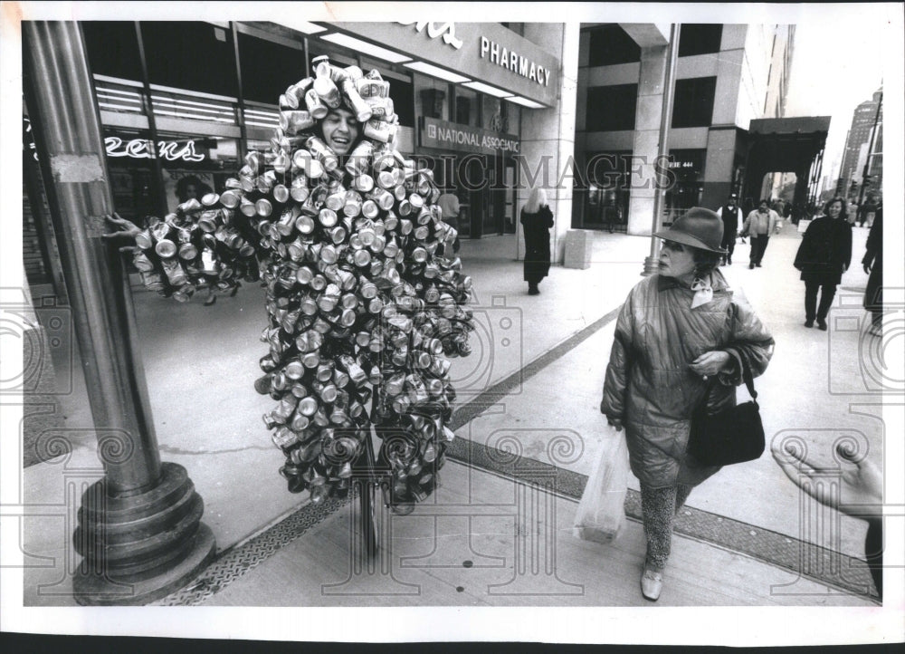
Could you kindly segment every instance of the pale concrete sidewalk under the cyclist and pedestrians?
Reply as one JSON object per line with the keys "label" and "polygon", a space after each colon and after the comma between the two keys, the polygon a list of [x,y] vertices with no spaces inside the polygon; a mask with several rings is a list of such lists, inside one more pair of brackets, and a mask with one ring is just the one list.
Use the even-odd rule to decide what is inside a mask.
{"label": "pale concrete sidewalk under the cyclist and pedestrians", "polygon": [[[830,332],[805,330],[801,326],[804,284],[791,267],[799,239],[793,230],[788,226],[786,234],[771,239],[764,268],[748,270],[747,247],[738,245],[736,264],[724,269],[730,284],[744,288],[776,337],[776,356],[767,374],[756,382],[767,438],[801,438],[824,461],[832,461],[829,453],[835,439],[852,438],[860,447],[868,447],[871,456],[880,457],[882,422],[866,400],[875,399],[881,390],[870,388],[863,373],[862,353],[870,341],[863,334],[866,314],[857,291],[866,283],[866,275],[860,266],[853,266],[843,279]],[[493,592],[475,590],[498,583],[475,564],[477,553],[496,562],[487,567],[509,570],[497,571],[498,576],[511,576],[518,569],[512,553],[519,552],[518,543],[524,544],[516,528],[519,511],[512,508],[518,502],[503,502],[502,509],[482,505],[500,494],[524,493],[518,489],[529,487],[525,486],[529,477],[518,469],[481,464],[470,455],[447,464],[443,487],[433,501],[419,505],[412,516],[386,518],[392,525],[386,542],[391,547],[385,548],[387,561],[396,562],[391,570],[403,571],[407,558],[426,556],[419,548],[432,541],[435,555],[446,557],[440,566],[443,574],[420,564],[399,572],[409,575],[400,577],[404,584],[433,588],[424,592],[437,604],[632,605],[641,601],[637,589],[643,553],[640,524],[629,520],[617,542],[606,546],[568,534],[582,480],[603,448],[613,444],[614,434],[605,428],[597,410],[613,338],[612,318],[625,294],[640,281],[650,246],[650,239],[644,237],[593,236],[591,268],[554,267],[538,296],[527,295],[521,264],[505,256],[510,249],[514,255],[512,237],[463,242],[462,260],[474,279],[479,328],[472,339],[472,357],[454,360],[452,366],[459,401],[465,407],[457,414],[462,421],[456,430],[459,447],[468,449],[470,442],[491,455],[507,451],[518,455],[519,462],[546,466],[557,479],[567,479],[566,486],[541,494],[548,499],[538,500],[539,505],[556,506],[557,518],[556,522],[540,520],[538,529],[557,534],[558,577],[567,583],[578,580],[584,590],[562,597],[548,595],[544,588],[550,579],[543,576],[534,578],[529,584],[533,590],[516,600],[507,593],[503,596],[509,600],[491,600],[491,595],[496,597]],[[866,230],[855,229],[854,262],[860,260],[865,237]],[[394,594],[381,585],[386,575],[369,578],[376,594],[363,594],[360,588],[345,595],[320,591],[352,561],[348,559],[355,540],[349,535],[353,533],[348,523],[350,505],[333,506],[332,511],[307,507],[304,495],[287,493],[277,474],[282,456],[260,419],[272,400],[252,390],[252,381],[260,374],[257,360],[265,351],[258,341],[265,324],[262,289],[243,288],[235,298],[220,298],[212,307],[201,302],[177,304],[141,291],[135,297],[162,458],[188,469],[205,499],[204,521],[213,529],[222,553],[207,576],[202,575],[203,582],[164,603],[385,604],[383,595]],[[73,471],[85,481],[101,474],[84,380],[71,372],[66,358],[54,363],[59,375],[72,379],[73,392],[62,398],[60,407],[71,453],[24,470],[25,504],[60,507],[59,515],[45,511],[40,517],[24,519],[26,563],[33,566],[25,573],[26,605],[73,603],[65,570],[76,561],[69,526],[74,515],[65,499],[65,486]],[[501,381],[506,382],[504,399],[486,404],[484,393]],[[462,495],[463,479],[473,494]],[[634,480],[630,488],[637,489]],[[443,509],[441,514],[452,511],[459,517],[437,517],[438,510],[432,507],[438,502],[458,507]],[[474,515],[469,514],[472,509]],[[790,571],[796,556],[803,559],[805,554],[817,553],[832,559],[838,553],[846,563],[862,557],[863,527],[843,518],[841,529],[814,529],[814,520],[823,518],[802,514],[797,489],[768,452],[759,461],[729,466],[701,485],[691,495],[689,509],[688,524],[675,539],[676,563],[671,562],[668,573],[667,583],[675,594],[667,599],[664,591],[662,602],[872,603],[869,588],[863,588],[861,596],[853,591],[863,582],[862,574],[840,583],[816,568],[804,571],[811,580],[801,582],[807,585],[803,595],[771,591],[771,586],[791,584],[798,578]],[[496,523],[494,511],[499,514]],[[418,535],[425,521],[433,524],[429,537]],[[475,539],[483,544],[474,545]],[[328,542],[332,545],[327,546]],[[453,544],[459,549],[449,549]],[[319,572],[320,563],[315,563],[323,563],[325,547],[333,560]],[[240,553],[244,563],[231,564],[230,557]],[[466,556],[471,558],[462,558]],[[472,566],[462,567],[459,559],[472,561]],[[476,576],[475,568],[484,572]],[[389,579],[395,576],[396,572]],[[428,578],[431,581],[425,581]],[[456,582],[460,578],[465,581]],[[283,582],[274,586],[277,579]],[[612,583],[614,579],[619,581]],[[460,586],[465,590],[448,591]],[[336,600],[340,596],[346,599]],[[416,603],[424,603],[424,596]]]}

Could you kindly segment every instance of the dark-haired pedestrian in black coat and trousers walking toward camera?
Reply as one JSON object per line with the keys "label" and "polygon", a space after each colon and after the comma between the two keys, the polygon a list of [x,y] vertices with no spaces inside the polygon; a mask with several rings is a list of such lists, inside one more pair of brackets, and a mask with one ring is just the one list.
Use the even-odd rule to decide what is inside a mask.
{"label": "dark-haired pedestrian in black coat and trousers walking toward camera", "polygon": [[[814,219],[795,255],[795,268],[805,283],[805,327],[826,331],[826,314],[830,311],[836,286],[852,263],[852,225],[845,215],[845,201],[834,197],[826,203],[824,215]],[[817,306],[817,293],[820,306]]]}

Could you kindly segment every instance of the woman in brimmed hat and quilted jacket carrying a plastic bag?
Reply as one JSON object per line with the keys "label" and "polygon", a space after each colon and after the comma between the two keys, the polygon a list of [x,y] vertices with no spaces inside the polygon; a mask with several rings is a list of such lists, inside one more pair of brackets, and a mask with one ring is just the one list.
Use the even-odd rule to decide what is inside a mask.
{"label": "woman in brimmed hat and quilted jacket carrying a plastic bag", "polygon": [[625,428],[632,472],[641,482],[647,555],[644,597],[656,600],[670,554],[672,521],[691,489],[719,470],[686,452],[691,414],[708,397],[716,413],[735,405],[744,361],[767,368],[773,337],[717,269],[723,224],[692,208],[663,239],[659,273],[629,293],[616,322],[600,411]]}

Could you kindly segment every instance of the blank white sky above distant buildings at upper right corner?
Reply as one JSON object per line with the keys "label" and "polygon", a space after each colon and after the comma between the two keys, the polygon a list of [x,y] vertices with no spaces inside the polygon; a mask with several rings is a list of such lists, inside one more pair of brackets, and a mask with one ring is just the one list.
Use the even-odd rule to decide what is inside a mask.
{"label": "blank white sky above distant buildings at upper right corner", "polygon": [[[843,5],[844,6],[844,5]],[[848,5],[852,7],[852,5]],[[859,12],[860,13],[860,12]],[[786,115],[832,116],[824,152],[824,174],[842,159],[852,114],[883,82],[881,16],[851,12],[795,25]]]}

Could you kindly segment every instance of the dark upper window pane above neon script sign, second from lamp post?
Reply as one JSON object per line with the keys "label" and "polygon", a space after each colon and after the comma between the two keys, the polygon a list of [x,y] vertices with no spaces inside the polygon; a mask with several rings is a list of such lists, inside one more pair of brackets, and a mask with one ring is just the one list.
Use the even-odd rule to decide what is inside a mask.
{"label": "dark upper window pane above neon script sign, second from lamp post", "polygon": [[148,22],[141,24],[141,34],[152,84],[238,95],[229,30],[209,23]]}

